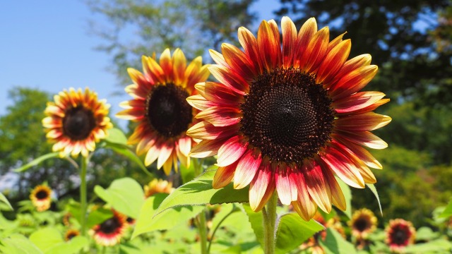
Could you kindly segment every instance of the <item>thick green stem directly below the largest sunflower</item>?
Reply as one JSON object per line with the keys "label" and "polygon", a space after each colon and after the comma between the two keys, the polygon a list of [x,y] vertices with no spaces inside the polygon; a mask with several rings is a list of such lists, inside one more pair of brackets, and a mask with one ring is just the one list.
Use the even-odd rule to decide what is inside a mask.
{"label": "thick green stem directly below the largest sunflower", "polygon": [[275,223],[276,207],[278,205],[278,196],[273,193],[268,200],[266,207],[262,210],[263,215],[263,250],[266,254],[275,253]]}

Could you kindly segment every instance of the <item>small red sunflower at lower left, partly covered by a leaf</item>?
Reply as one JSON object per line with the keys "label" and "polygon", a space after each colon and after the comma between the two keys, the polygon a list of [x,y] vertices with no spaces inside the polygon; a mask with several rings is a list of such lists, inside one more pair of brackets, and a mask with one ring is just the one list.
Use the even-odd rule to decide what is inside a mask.
{"label": "small red sunflower at lower left, partly covered by a leaf", "polygon": [[126,231],[128,226],[126,219],[124,214],[113,210],[113,217],[93,226],[90,235],[101,246],[114,246],[121,241],[121,237]]}

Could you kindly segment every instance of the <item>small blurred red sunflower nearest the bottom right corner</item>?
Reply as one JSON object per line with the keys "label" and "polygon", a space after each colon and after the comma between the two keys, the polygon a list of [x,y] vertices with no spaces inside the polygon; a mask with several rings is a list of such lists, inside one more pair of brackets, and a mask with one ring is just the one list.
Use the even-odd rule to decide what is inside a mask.
{"label": "small blurred red sunflower nearest the bottom right corner", "polygon": [[405,219],[391,219],[386,227],[386,243],[394,253],[415,242],[416,229]]}

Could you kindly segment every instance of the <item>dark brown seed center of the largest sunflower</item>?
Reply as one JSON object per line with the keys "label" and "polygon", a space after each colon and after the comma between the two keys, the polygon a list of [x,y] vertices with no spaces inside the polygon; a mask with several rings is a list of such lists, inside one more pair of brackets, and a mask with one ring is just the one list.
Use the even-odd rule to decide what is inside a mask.
{"label": "dark brown seed center of the largest sunflower", "polygon": [[314,75],[299,69],[259,75],[241,109],[240,131],[273,162],[301,164],[331,139],[331,99]]}

